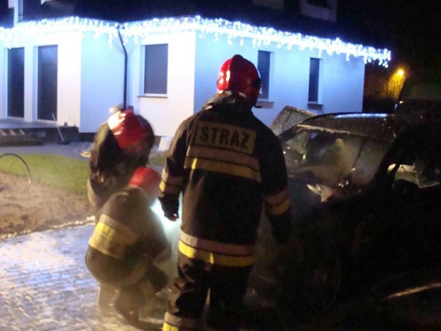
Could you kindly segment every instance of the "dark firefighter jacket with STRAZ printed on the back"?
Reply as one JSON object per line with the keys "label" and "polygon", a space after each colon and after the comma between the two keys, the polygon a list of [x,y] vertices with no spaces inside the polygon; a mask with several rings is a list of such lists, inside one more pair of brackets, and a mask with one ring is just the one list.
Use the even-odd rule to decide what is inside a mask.
{"label": "dark firefighter jacket with STRAZ printed on the back", "polygon": [[282,148],[239,101],[216,94],[181,123],[167,153],[159,197],[166,214],[177,214],[183,192],[182,254],[237,267],[254,263],[263,205],[278,241],[287,241],[291,232]]}

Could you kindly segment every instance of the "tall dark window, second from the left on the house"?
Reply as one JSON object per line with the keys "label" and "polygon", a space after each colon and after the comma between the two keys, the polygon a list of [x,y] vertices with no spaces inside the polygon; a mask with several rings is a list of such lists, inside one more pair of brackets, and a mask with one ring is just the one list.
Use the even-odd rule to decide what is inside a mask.
{"label": "tall dark window, second from the left on the house", "polygon": [[58,46],[38,49],[37,119],[57,119]]}

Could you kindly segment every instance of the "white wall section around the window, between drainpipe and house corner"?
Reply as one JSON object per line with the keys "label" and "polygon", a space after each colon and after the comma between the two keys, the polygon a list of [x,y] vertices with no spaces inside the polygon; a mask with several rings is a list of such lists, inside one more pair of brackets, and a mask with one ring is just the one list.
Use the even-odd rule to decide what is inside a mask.
{"label": "white wall section around the window, between drainpipe and house corner", "polygon": [[[167,95],[143,94],[145,45],[168,44]],[[156,136],[171,137],[194,113],[196,32],[152,34],[127,47],[130,57],[130,99],[136,113],[150,121]]]}

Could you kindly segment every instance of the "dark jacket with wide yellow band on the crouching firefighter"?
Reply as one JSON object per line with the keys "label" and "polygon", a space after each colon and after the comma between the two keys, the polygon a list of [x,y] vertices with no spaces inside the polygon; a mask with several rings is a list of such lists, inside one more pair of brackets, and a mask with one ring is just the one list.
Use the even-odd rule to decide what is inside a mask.
{"label": "dark jacket with wide yellow band on the crouching firefighter", "polygon": [[105,282],[121,281],[168,249],[161,220],[148,206],[141,188],[127,188],[112,194],[98,212],[98,222],[89,239],[86,265]]}

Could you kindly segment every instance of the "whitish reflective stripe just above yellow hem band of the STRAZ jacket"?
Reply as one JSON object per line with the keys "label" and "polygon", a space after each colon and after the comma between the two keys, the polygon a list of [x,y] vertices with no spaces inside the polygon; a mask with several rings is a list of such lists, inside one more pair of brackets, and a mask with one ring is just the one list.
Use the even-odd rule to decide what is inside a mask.
{"label": "whitish reflective stripe just above yellow hem band of the STRAZ jacket", "polygon": [[206,250],[208,252],[216,252],[220,254],[229,254],[237,257],[249,257],[256,252],[255,245],[237,245],[234,243],[220,243],[218,241],[211,241],[194,237],[181,231],[179,239],[193,248]]}

